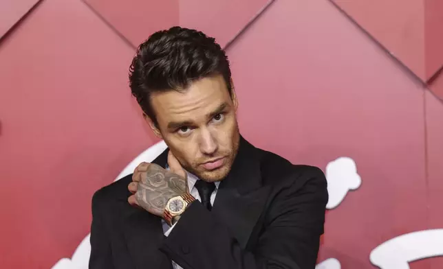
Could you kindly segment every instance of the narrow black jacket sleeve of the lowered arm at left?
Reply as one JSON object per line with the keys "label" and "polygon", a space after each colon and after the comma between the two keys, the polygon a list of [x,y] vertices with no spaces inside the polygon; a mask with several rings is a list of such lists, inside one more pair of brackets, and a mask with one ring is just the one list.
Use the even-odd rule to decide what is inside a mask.
{"label": "narrow black jacket sleeve of the lowered arm at left", "polygon": [[100,191],[92,197],[92,224],[91,224],[91,256],[89,269],[112,269],[111,244],[102,218],[100,218]]}

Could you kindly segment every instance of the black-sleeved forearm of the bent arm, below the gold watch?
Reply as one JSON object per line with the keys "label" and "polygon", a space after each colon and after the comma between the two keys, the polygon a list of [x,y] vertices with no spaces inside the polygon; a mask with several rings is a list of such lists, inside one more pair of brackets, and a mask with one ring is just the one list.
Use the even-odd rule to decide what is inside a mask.
{"label": "black-sleeved forearm of the bent arm, below the gold watch", "polygon": [[162,251],[184,269],[296,269],[242,250],[237,240],[199,203],[193,203],[165,241]]}

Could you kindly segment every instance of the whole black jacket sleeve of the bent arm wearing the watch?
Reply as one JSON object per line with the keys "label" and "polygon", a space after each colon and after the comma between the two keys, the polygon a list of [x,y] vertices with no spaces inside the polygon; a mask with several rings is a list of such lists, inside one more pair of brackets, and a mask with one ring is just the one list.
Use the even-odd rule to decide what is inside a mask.
{"label": "whole black jacket sleeve of the bent arm wearing the watch", "polygon": [[[252,252],[241,250],[226,226],[193,202],[165,240],[162,250],[184,269],[315,268],[323,234],[327,183],[321,169],[275,196]],[[295,182],[304,180],[302,187]]]}

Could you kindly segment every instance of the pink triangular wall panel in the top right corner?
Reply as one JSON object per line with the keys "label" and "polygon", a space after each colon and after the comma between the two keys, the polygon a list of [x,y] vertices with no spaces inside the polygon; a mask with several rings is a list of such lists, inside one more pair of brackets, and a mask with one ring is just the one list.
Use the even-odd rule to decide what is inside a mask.
{"label": "pink triangular wall panel in the top right corner", "polygon": [[331,1],[422,82],[443,66],[443,1]]}

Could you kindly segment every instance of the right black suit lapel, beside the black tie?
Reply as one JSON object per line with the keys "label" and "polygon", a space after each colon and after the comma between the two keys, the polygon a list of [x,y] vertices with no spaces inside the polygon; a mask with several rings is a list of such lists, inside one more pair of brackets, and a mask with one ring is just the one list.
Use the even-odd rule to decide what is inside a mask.
{"label": "right black suit lapel, beside the black tie", "polygon": [[220,183],[212,210],[244,249],[270,192],[269,187],[261,185],[260,154],[240,138],[239,152],[228,176]]}

